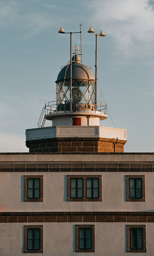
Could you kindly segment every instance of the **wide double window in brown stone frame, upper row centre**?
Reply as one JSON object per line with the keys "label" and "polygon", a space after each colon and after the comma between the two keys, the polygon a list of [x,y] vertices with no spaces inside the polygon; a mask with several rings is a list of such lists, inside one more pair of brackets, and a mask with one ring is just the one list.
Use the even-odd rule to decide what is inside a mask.
{"label": "wide double window in brown stone frame, upper row centre", "polygon": [[67,175],[67,201],[102,201],[102,176]]}

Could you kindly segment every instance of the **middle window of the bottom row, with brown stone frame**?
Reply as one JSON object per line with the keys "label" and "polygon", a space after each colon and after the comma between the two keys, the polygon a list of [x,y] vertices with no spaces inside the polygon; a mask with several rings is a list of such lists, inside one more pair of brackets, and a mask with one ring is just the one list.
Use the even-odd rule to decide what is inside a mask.
{"label": "middle window of the bottom row, with brown stone frame", "polygon": [[76,252],[95,252],[94,225],[75,225]]}

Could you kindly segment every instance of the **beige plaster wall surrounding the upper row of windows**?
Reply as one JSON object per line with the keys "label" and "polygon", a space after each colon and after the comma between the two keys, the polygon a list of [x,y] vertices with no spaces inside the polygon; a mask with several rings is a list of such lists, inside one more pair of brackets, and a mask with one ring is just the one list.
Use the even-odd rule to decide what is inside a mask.
{"label": "beige plaster wall surrounding the upper row of windows", "polygon": [[43,202],[23,202],[24,173],[0,173],[1,211],[154,211],[154,173],[141,173],[145,174],[145,202],[126,202],[125,175],[128,172],[72,173],[102,174],[102,202],[67,202],[67,174],[71,173],[25,173],[37,174],[44,177]]}

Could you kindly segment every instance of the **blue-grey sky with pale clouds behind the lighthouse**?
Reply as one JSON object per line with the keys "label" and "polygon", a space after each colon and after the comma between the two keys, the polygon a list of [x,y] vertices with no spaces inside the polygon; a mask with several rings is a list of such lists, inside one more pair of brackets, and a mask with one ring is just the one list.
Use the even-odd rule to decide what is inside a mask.
{"label": "blue-grey sky with pale clouds behind the lighthouse", "polygon": [[[25,130],[56,100],[55,81],[70,59],[69,34],[59,28],[79,32],[80,23],[83,63],[94,73],[87,31],[106,34],[98,37],[98,100],[112,120],[108,113],[101,126],[127,129],[124,152],[153,152],[154,0],[0,0],[0,152],[28,152]],[[79,34],[72,44],[80,46]]]}

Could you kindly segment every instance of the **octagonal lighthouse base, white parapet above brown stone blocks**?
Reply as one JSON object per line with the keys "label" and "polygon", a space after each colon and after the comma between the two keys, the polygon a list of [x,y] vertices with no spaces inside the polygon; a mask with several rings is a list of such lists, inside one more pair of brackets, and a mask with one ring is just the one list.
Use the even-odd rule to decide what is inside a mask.
{"label": "octagonal lighthouse base, white parapet above brown stone blocks", "polygon": [[[127,130],[103,126],[52,126],[26,130],[30,152],[124,152]],[[118,140],[117,140],[118,138]],[[116,143],[116,144],[115,144]]]}

